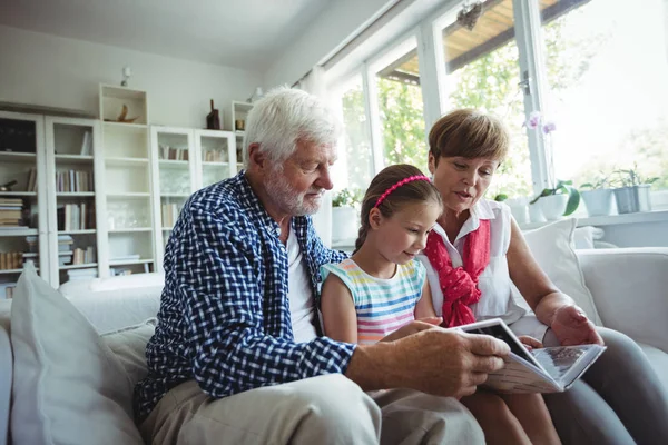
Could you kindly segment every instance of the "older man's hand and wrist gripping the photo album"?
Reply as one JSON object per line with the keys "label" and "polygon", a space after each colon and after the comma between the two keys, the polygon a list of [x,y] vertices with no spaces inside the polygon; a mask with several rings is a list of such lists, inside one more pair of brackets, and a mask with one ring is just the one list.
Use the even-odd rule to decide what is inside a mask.
{"label": "older man's hand and wrist gripping the photo album", "polygon": [[487,335],[439,327],[391,343],[358,346],[346,376],[363,389],[412,388],[444,397],[463,397],[501,369],[510,348]]}

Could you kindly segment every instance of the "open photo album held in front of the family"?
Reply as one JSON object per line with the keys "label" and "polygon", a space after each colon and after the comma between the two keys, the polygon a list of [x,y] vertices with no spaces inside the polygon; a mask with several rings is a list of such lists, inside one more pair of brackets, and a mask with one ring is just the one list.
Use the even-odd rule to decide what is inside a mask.
{"label": "open photo album held in front of the family", "polygon": [[505,366],[488,375],[484,387],[501,393],[561,393],[570,388],[606,350],[600,345],[533,348],[529,350],[500,318],[459,326],[472,334],[491,335],[510,346]]}

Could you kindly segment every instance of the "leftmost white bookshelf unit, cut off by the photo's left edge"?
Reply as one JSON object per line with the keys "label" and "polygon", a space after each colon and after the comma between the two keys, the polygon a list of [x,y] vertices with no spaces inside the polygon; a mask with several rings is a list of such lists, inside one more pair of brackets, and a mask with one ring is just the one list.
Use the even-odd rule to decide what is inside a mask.
{"label": "leftmost white bookshelf unit, cut off by the photo's left edge", "polygon": [[[28,227],[0,227],[0,253],[20,253],[17,263],[22,265],[22,254],[29,253],[27,237],[36,237],[33,249],[39,258],[36,267],[49,281],[45,157],[43,116],[0,111],[0,184],[17,181],[12,191],[0,191],[0,199],[21,199],[22,216],[29,220]],[[31,171],[37,190],[28,190]],[[0,298],[6,298],[6,286],[16,283],[22,270],[22,267],[6,265],[0,275]]]}

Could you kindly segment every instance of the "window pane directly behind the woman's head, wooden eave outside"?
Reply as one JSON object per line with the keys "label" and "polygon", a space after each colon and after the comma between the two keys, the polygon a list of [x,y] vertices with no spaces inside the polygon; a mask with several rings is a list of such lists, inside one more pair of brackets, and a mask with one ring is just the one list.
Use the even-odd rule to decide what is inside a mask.
{"label": "window pane directly behind the woman's head, wooden eave outside", "polygon": [[450,12],[436,21],[441,29],[448,98],[442,109],[474,108],[499,117],[511,134],[511,147],[499,167],[488,197],[532,194],[531,164],[520,83],[519,50],[514,40],[512,0],[483,3],[474,28],[466,28]]}

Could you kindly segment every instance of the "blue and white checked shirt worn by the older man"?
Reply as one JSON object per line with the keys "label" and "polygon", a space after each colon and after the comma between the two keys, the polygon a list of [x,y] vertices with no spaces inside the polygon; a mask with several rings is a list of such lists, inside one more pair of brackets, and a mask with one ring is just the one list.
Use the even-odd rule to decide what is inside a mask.
{"label": "blue and white checked shirt worn by the older man", "polygon": [[[323,246],[310,217],[292,218],[292,227],[317,296],[320,267],[345,254]],[[146,347],[148,376],[135,388],[138,419],[193,378],[219,398],[345,372],[354,345],[327,337],[294,342],[287,251],[278,233],[243,171],[186,202],[165,251],[159,323]]]}

